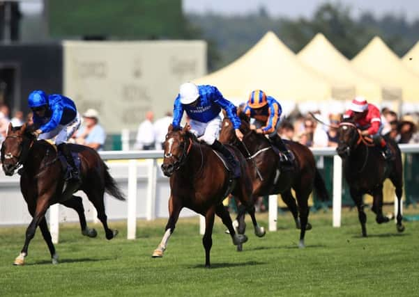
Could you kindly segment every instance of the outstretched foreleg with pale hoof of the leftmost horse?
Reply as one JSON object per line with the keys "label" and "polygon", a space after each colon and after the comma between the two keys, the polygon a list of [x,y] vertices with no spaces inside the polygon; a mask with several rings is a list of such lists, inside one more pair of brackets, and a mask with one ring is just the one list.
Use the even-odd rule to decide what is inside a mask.
{"label": "outstretched foreleg with pale hoof of the leftmost horse", "polygon": [[26,229],[24,246],[20,252],[20,255],[17,256],[17,258],[15,259],[15,262],[13,263],[13,265],[17,265],[17,266],[24,265],[24,259],[28,255],[29,243],[33,239],[33,236],[35,236],[36,227],[38,227],[40,220],[43,219],[45,212],[47,211],[47,208],[49,207],[48,197],[49,195],[48,196],[44,195],[43,197],[38,198],[36,202],[36,209],[35,211],[33,211],[32,221]]}

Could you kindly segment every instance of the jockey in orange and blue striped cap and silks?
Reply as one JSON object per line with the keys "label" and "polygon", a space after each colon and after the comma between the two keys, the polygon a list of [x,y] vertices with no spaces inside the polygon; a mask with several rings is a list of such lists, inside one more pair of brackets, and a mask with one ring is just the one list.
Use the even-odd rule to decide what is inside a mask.
{"label": "jockey in orange and blue striped cap and silks", "polygon": [[253,129],[258,134],[268,134],[269,141],[282,152],[280,161],[286,165],[292,165],[294,155],[287,150],[284,141],[277,134],[277,127],[280,124],[282,113],[279,102],[271,96],[266,96],[266,93],[262,90],[254,90],[250,93],[244,111],[248,117],[255,120],[254,125],[250,125],[250,129]]}

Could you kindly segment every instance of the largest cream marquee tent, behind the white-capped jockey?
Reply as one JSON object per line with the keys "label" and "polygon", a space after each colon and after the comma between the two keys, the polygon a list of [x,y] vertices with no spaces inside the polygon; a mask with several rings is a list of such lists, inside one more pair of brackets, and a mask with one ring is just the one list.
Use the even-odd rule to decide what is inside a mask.
{"label": "largest cream marquee tent, behind the white-capped jockey", "polygon": [[329,99],[328,81],[298,61],[273,32],[226,67],[194,80],[217,86],[224,97],[244,102],[251,90],[261,89],[280,102],[316,102]]}

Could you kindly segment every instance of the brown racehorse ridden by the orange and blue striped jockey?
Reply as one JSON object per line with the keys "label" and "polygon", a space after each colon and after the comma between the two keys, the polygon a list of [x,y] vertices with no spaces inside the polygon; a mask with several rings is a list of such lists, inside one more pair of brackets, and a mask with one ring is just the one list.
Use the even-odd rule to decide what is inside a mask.
{"label": "brown racehorse ridden by the orange and blue striped jockey", "polygon": [[[245,113],[241,112],[239,117],[241,118],[240,130],[244,135],[243,142],[236,138],[229,118],[224,118],[222,121],[220,142],[235,145],[246,156],[247,164],[251,170],[253,202],[261,195],[281,194],[282,200],[294,216],[296,227],[300,229],[298,246],[304,248],[305,231],[312,227],[307,222],[310,210],[308,207],[310,193],[315,188],[321,200],[329,199],[323,178],[316,168],[314,156],[305,145],[294,141],[284,141],[296,157],[296,165],[294,168],[282,170],[280,156],[268,139],[250,129],[250,119]],[[291,188],[296,193],[298,207],[291,193]],[[239,234],[245,232],[244,216],[244,211],[238,211]]]}

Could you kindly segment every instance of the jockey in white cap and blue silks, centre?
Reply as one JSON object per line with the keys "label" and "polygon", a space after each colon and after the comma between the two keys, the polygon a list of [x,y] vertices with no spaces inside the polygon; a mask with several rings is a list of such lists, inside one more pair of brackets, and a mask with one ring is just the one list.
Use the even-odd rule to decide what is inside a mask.
{"label": "jockey in white cap and blue silks, centre", "polygon": [[233,154],[217,140],[221,129],[220,111],[224,109],[233,122],[236,136],[240,140],[243,134],[239,130],[241,122],[236,114],[236,106],[222,97],[215,86],[196,86],[195,83],[183,83],[179,95],[174,101],[173,122],[174,129],[180,129],[183,111],[190,118],[190,132],[200,141],[204,141],[214,150],[223,154],[229,166],[233,168],[234,178],[240,176],[240,167]]}

